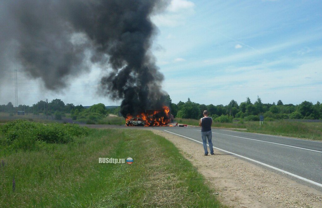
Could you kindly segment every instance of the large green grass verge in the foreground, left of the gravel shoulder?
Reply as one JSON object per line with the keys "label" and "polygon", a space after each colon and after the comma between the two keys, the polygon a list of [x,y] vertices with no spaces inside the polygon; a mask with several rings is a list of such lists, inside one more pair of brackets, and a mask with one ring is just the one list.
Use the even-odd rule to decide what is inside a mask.
{"label": "large green grass verge in the foreground, left of the gravel shoulder", "polygon": [[[129,156],[132,165],[98,163]],[[0,207],[223,206],[178,149],[150,131],[90,129],[68,144],[0,153],[0,160]]]}

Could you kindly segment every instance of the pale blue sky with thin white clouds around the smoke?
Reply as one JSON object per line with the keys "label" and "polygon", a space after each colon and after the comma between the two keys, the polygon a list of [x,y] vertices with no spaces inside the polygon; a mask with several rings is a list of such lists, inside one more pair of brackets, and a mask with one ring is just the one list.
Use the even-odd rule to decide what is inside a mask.
{"label": "pale blue sky with thin white clouds around the smoke", "polygon": [[[322,1],[314,0],[172,0],[152,17],[158,34],[151,52],[165,76],[163,90],[175,103],[190,98],[227,105],[257,96],[264,103],[322,101],[321,9]],[[96,93],[100,75],[93,66],[62,93],[20,75],[19,103],[60,98],[76,105],[119,105]],[[10,96],[14,103],[14,94],[5,97]]]}

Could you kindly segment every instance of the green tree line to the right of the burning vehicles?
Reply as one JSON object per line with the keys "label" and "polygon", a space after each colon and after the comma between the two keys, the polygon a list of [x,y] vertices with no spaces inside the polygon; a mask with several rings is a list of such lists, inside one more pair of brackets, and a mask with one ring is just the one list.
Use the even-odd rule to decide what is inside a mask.
{"label": "green tree line to the right of the burning vehicles", "polygon": [[[321,119],[322,104],[317,101],[313,104],[309,101],[303,101],[301,104],[283,104],[281,100],[277,103],[262,103],[260,97],[252,103],[249,97],[240,104],[231,100],[228,105],[204,105],[192,102],[189,98],[186,102],[179,101],[177,104],[172,103],[170,97],[169,103],[172,114],[177,118],[199,119],[203,117],[203,111],[208,110],[209,115],[218,119],[238,118],[244,120],[259,120],[259,115],[263,115],[266,120],[275,119]],[[220,119],[220,118],[219,118]]]}

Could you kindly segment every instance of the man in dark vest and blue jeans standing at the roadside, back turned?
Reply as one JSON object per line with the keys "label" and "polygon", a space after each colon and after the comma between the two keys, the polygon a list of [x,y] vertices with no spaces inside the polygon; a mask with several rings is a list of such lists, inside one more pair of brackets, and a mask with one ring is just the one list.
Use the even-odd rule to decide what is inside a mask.
{"label": "man in dark vest and blue jeans standing at the roadside, back turned", "polygon": [[204,145],[204,156],[208,155],[207,138],[209,143],[210,154],[213,155],[213,143],[211,142],[211,125],[213,118],[208,117],[208,111],[204,110],[204,118],[200,118],[199,126],[201,127],[201,138]]}

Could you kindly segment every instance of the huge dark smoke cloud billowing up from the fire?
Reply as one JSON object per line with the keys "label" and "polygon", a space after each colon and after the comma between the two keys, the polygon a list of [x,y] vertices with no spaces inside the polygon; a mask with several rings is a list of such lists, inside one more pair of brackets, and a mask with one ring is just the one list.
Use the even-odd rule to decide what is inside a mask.
{"label": "huge dark smoke cloud billowing up from the fire", "polygon": [[112,69],[102,76],[100,92],[123,99],[123,115],[160,108],[163,75],[150,52],[156,34],[150,15],[166,5],[162,0],[3,0],[0,73],[14,62],[7,54],[15,48],[29,76],[59,91],[70,77],[100,63]]}

